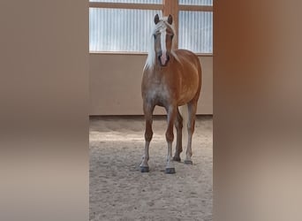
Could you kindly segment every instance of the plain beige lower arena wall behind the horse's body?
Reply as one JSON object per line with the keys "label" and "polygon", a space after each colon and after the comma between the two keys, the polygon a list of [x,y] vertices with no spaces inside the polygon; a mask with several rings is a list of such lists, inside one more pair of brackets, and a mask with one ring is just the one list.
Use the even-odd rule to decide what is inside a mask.
{"label": "plain beige lower arena wall behind the horse's body", "polygon": [[[140,82],[147,55],[90,54],[90,115],[142,115]],[[213,57],[200,56],[202,88],[197,114],[213,114]],[[155,108],[155,114],[165,114]]]}

